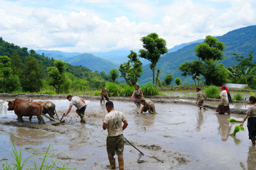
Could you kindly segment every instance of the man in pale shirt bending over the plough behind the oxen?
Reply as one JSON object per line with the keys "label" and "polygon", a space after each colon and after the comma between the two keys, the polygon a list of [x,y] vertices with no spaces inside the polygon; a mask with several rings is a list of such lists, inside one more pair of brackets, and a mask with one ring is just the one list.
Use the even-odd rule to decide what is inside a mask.
{"label": "man in pale shirt bending over the plough behind the oxen", "polygon": [[77,108],[76,113],[80,116],[81,122],[85,123],[84,111],[87,105],[85,104],[84,99],[78,96],[71,96],[71,95],[68,95],[67,99],[68,101],[70,101],[70,107],[68,108],[67,113],[64,116],[67,116],[67,114],[70,113],[72,106],[75,105]]}

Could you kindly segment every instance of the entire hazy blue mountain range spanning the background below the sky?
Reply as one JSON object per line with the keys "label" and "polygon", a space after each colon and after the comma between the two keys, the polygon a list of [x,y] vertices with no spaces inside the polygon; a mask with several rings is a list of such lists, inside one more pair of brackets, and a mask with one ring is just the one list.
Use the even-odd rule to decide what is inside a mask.
{"label": "entire hazy blue mountain range spanning the background below the sky", "polygon": [[[238,53],[248,57],[251,51],[256,51],[256,26],[239,28],[217,38],[225,44],[225,59],[220,61],[225,67],[233,66],[237,63],[230,53]],[[197,59],[194,49],[203,40],[183,43],[170,48],[169,53],[163,55],[159,62],[157,62],[156,68],[159,68],[161,72],[160,79],[163,80],[167,74],[172,74],[175,78],[180,77],[183,83],[193,84],[191,77],[181,77],[181,72],[177,68],[183,62],[192,62],[194,59]],[[130,54],[130,50],[95,52],[91,54],[45,50],[36,50],[36,52],[38,54],[44,53],[44,56],[54,59],[62,59],[72,65],[83,65],[92,71],[105,71],[106,74],[112,68],[119,68],[120,63],[127,62],[127,55]],[[140,60],[143,62],[143,71],[145,73],[140,77],[140,83],[152,81],[152,71],[149,68],[150,62],[146,59],[140,58]],[[256,59],[254,59],[254,62],[256,62]]]}

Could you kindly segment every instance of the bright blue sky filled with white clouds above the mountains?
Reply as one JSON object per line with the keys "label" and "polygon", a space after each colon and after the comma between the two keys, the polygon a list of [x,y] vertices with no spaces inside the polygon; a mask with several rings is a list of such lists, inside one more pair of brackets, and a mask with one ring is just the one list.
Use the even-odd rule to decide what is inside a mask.
{"label": "bright blue sky filled with white clouds above the mountains", "polygon": [[256,25],[256,0],[0,0],[0,37],[29,49],[106,52],[167,48]]}

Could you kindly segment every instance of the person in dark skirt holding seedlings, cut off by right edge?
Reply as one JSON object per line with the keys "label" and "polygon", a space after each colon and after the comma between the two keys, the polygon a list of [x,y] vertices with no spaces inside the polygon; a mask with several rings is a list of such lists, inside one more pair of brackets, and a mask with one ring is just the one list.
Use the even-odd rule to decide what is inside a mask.
{"label": "person in dark skirt holding seedlings, cut off by right edge", "polygon": [[250,96],[249,98],[250,107],[248,108],[244,120],[241,123],[240,127],[244,125],[244,122],[247,120],[247,128],[249,131],[249,139],[251,139],[252,143],[255,144],[256,141],[256,98],[254,96]]}

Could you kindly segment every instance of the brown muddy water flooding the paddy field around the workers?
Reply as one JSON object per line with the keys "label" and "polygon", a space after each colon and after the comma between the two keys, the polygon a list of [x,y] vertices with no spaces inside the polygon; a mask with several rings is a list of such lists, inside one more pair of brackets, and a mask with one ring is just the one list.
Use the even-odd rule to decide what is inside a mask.
{"label": "brown muddy water flooding the paddy field around the workers", "polygon": [[[68,109],[67,99],[50,100],[55,103],[59,116]],[[155,103],[158,114],[140,114],[133,102],[113,101],[116,110],[121,110],[128,120],[124,130],[126,139],[141,150],[145,156],[137,162],[138,151],[125,143],[125,169],[253,169],[256,167],[256,148],[248,139],[248,131],[229,136],[238,123],[227,122],[234,118],[242,120],[244,115],[217,115],[215,111],[201,111],[193,105]],[[109,169],[106,153],[107,131],[102,130],[102,118],[107,111],[99,101],[86,100],[85,118],[81,124],[75,108],[65,123],[52,126],[47,118],[46,125],[38,125],[36,117],[29,122],[17,122],[13,111],[7,111],[7,102],[0,100],[0,148],[12,148],[9,136],[23,156],[33,152],[25,150],[31,147],[38,153],[45,153],[49,144],[50,152],[63,152],[70,157],[55,154],[65,167],[80,170]],[[246,123],[245,123],[246,124]],[[9,136],[6,135],[9,134]],[[1,152],[1,157],[9,157]],[[35,159],[39,162],[40,159]],[[116,163],[117,164],[117,163]]]}

